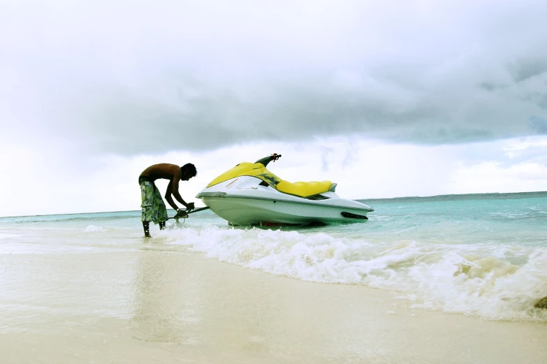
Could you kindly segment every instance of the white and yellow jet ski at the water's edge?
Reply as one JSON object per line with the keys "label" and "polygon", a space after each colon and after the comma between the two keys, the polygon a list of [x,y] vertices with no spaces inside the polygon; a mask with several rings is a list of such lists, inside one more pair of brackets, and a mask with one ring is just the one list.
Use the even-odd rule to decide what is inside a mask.
{"label": "white and yellow jet ski at the water's edge", "polygon": [[370,206],[340,198],[330,181],[282,180],[266,166],[281,154],[239,163],[197,194],[215,214],[233,226],[326,225],[367,220]]}

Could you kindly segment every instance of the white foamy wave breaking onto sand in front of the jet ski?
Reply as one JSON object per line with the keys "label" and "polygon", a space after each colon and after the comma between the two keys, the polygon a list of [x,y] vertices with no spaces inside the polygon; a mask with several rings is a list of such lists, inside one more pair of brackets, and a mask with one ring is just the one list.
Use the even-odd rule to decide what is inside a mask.
{"label": "white foamy wave breaking onto sand in front of the jet ski", "polygon": [[205,226],[162,231],[207,257],[310,282],[402,291],[414,307],[488,319],[547,321],[547,249],[521,245],[367,242],[342,234]]}

